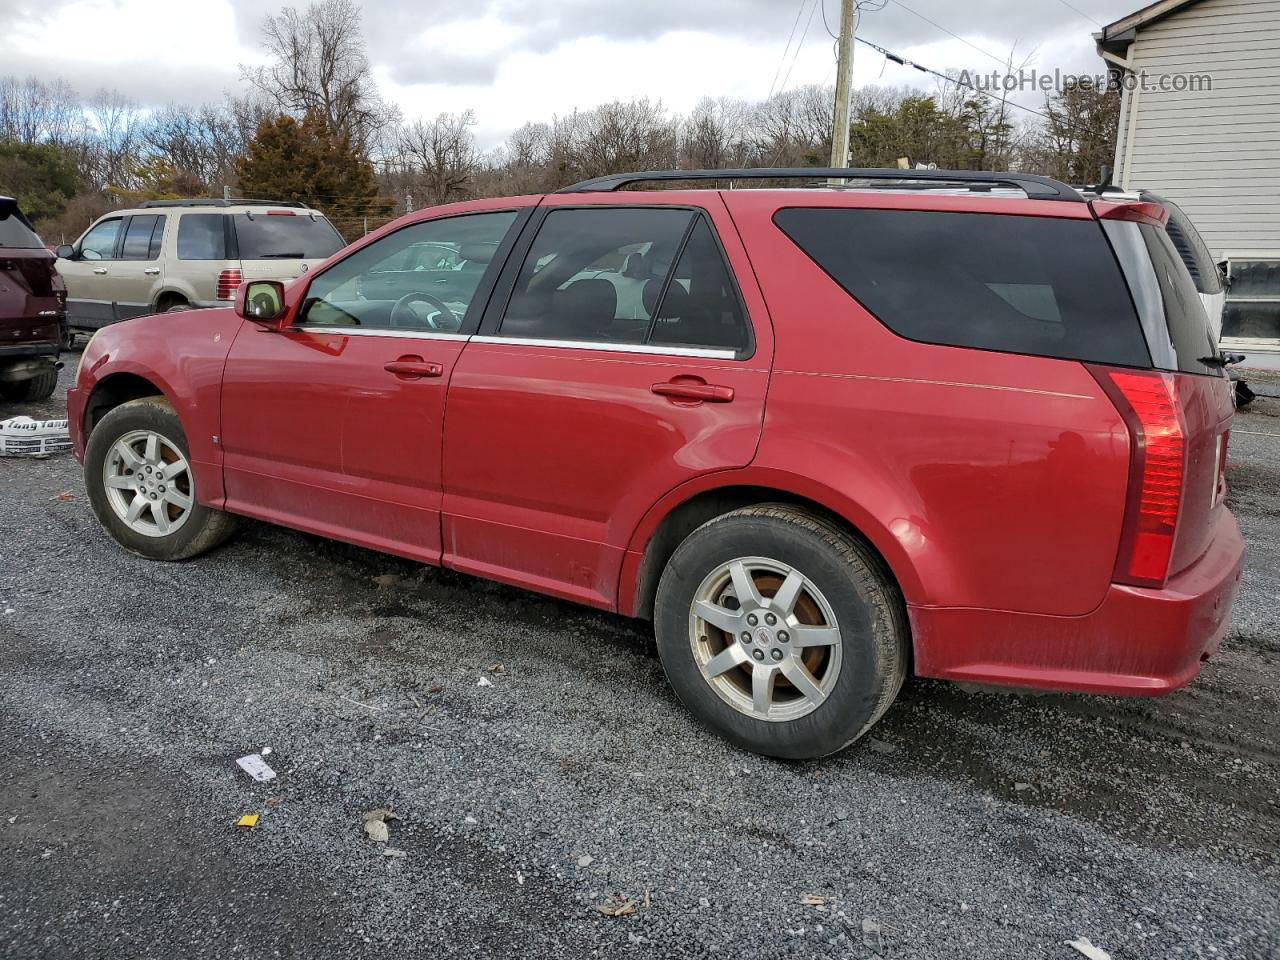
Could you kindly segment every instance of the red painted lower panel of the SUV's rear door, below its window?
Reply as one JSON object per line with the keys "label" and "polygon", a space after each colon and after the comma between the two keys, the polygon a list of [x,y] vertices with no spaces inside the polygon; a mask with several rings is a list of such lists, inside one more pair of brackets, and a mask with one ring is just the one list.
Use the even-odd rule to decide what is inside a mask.
{"label": "red painted lower panel of the SUV's rear door, below its window", "polygon": [[[733,399],[654,393],[681,378]],[[759,361],[474,340],[449,385],[444,564],[612,608],[645,511],[750,462],[767,385]]]}

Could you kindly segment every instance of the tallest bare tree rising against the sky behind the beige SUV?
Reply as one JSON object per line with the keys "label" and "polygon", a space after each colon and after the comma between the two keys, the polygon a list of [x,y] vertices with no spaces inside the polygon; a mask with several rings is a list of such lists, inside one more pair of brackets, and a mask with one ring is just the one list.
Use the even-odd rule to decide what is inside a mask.
{"label": "tallest bare tree rising against the sky behind the beige SUV", "polygon": [[262,45],[273,63],[241,67],[241,76],[278,110],[294,116],[314,110],[366,150],[398,118],[374,84],[353,0],[319,0],[306,10],[287,6],[266,18]]}

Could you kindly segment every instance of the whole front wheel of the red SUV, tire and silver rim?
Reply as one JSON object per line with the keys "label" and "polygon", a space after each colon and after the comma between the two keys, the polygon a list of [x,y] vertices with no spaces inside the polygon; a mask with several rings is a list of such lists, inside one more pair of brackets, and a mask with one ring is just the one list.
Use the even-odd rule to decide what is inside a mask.
{"label": "whole front wheel of the red SUV, tire and silver rim", "polygon": [[90,434],[84,486],[93,512],[122,547],[148,559],[180,561],[232,532],[229,513],[196,499],[187,434],[161,397],[122,403]]}

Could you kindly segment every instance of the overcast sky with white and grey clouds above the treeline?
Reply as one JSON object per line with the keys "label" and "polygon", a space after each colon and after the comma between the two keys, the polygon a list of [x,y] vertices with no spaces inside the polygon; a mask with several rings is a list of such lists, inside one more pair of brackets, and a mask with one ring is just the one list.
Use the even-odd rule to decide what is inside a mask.
{"label": "overcast sky with white and grey clouds above the treeline", "polygon": [[[383,95],[407,118],[472,108],[480,143],[492,147],[525,120],[620,97],[649,96],[685,111],[703,96],[760,100],[783,84],[831,83],[823,1],[835,29],[840,0],[364,0],[361,6]],[[938,70],[998,69],[1012,49],[1015,61],[1030,56],[1042,72],[1096,74],[1102,61],[1091,33],[1142,5],[887,0],[863,13],[858,35]],[[260,27],[275,9],[260,0],[0,0],[0,73],[60,76],[86,95],[115,87],[147,106],[219,100],[241,90],[239,64],[261,61]],[[933,86],[861,45],[854,81]]]}

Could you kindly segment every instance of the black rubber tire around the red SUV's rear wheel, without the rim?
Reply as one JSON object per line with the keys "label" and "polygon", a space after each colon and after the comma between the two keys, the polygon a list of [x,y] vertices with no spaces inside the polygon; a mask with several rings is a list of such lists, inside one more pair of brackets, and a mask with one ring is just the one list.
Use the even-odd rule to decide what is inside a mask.
{"label": "black rubber tire around the red SUV's rear wheel, without the rim", "polygon": [[[795,719],[740,712],[712,689],[694,658],[695,594],[721,564],[746,557],[801,572],[826,596],[840,628],[833,686],[820,705]],[[737,746],[785,759],[826,756],[863,736],[893,703],[910,660],[905,605],[884,563],[837,525],[787,504],[737,509],[690,534],[658,584],[654,628],[667,678],[685,707]]]}

